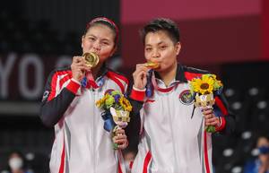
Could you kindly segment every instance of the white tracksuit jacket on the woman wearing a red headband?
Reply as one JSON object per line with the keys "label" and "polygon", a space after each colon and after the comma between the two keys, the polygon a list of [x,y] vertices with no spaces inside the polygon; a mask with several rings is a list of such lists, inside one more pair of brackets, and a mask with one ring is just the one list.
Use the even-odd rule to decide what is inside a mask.
{"label": "white tracksuit jacket on the woman wearing a red headband", "polygon": [[126,92],[127,79],[106,67],[86,88],[72,80],[71,69],[57,69],[48,77],[40,117],[54,125],[55,142],[50,159],[51,173],[125,172],[121,151],[112,147],[111,134],[104,128],[95,102],[108,90]]}

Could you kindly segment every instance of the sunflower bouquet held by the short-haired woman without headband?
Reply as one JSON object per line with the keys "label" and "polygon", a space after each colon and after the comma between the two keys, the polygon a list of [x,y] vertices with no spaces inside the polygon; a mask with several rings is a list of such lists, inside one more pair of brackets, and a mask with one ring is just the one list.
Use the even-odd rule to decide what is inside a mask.
{"label": "sunflower bouquet held by the short-haired woman without headband", "polygon": [[[223,89],[221,81],[216,79],[214,74],[202,74],[190,82],[191,93],[195,97],[195,107],[213,108],[215,103],[214,94],[220,95]],[[213,125],[205,127],[206,132],[215,132]]]}

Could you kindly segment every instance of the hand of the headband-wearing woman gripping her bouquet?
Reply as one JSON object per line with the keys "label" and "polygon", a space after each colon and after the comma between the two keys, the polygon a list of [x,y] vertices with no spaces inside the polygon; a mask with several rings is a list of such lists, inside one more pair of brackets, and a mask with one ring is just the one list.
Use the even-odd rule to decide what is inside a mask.
{"label": "hand of the headband-wearing woman gripping her bouquet", "polygon": [[118,128],[113,137],[113,143],[117,143],[117,149],[124,150],[128,146],[128,140],[126,131],[122,128]]}

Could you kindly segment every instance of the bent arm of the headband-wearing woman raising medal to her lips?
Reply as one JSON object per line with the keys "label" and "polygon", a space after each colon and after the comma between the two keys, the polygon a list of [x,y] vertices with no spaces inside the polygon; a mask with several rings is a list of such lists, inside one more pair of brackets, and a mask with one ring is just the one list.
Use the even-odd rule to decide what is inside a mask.
{"label": "bent arm of the headband-wearing woman raising medal to her lips", "polygon": [[[80,88],[80,82],[84,76],[84,72],[89,69],[85,65],[82,56],[74,56],[71,65],[72,80],[68,85],[56,95],[56,84],[58,72],[51,73],[45,87],[45,92],[41,104],[40,118],[47,126],[56,125],[56,123],[64,116],[66,109],[73,101],[76,92]],[[70,75],[66,73],[66,75]]]}

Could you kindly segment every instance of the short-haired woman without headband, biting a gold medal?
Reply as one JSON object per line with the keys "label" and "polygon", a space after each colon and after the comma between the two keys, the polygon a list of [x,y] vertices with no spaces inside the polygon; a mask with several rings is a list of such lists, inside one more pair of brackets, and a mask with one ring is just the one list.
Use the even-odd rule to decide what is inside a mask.
{"label": "short-haired woman without headband, biting a gold medal", "polygon": [[[136,101],[137,115],[133,122],[137,122],[134,117],[140,122],[134,173],[212,173],[213,131],[230,134],[235,128],[221,91],[213,95],[213,108],[195,108],[191,82],[213,74],[178,63],[179,36],[177,24],[163,18],[152,20],[142,30],[145,60],[156,65],[137,64],[133,74],[130,98]],[[210,86],[201,83],[202,89]],[[212,126],[213,131],[206,131],[205,126]]]}

